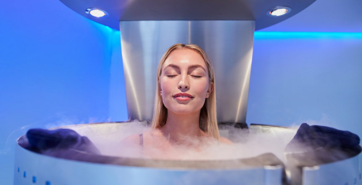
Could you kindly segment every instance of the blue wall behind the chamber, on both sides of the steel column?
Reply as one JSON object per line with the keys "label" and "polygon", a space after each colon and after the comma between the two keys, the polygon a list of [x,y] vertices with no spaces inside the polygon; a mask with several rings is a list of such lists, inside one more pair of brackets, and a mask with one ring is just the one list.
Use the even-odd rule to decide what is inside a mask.
{"label": "blue wall behind the chamber, on both sides of the steel column", "polygon": [[[58,0],[4,3],[0,184],[12,184],[15,140],[29,128],[123,121],[127,111],[119,31]],[[256,32],[247,123],[307,122],[362,136],[361,34],[287,34]]]}

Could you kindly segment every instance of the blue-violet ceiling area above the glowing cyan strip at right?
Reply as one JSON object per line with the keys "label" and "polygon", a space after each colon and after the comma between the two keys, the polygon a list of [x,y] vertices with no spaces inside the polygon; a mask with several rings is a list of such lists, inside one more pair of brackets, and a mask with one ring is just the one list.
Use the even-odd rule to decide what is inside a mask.
{"label": "blue-violet ceiling area above the glowing cyan strip at right", "polygon": [[362,0],[316,0],[295,16],[258,31],[362,32]]}

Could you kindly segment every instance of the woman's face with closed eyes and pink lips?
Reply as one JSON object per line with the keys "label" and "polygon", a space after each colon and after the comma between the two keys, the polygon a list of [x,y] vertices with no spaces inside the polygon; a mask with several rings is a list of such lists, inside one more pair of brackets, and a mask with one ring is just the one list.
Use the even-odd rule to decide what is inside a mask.
{"label": "woman's face with closed eyes and pink lips", "polygon": [[[213,84],[209,84],[207,66],[200,54],[191,49],[176,49],[163,64],[160,87],[168,111],[191,114],[201,110]],[[179,93],[187,94],[178,97]]]}

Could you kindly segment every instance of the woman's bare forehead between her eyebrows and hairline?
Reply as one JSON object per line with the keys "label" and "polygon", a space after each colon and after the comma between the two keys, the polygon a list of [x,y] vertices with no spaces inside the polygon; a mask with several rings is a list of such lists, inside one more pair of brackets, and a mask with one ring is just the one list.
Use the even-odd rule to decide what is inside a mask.
{"label": "woman's bare forehead between her eyebrows and hairline", "polygon": [[191,49],[176,49],[172,51],[163,64],[163,68],[169,64],[175,64],[182,67],[189,65],[201,65],[206,68],[206,63],[201,55]]}

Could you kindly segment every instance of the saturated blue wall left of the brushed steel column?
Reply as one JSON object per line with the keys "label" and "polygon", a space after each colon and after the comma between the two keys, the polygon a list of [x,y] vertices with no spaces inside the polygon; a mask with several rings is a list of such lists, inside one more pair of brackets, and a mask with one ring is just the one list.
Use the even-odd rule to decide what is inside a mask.
{"label": "saturated blue wall left of the brushed steel column", "polygon": [[[113,39],[117,32],[58,0],[1,6],[0,184],[7,185],[13,183],[15,141],[29,128],[109,120],[112,45],[120,40],[119,32]],[[125,98],[124,89],[119,97]],[[118,118],[127,119],[126,109]]]}

